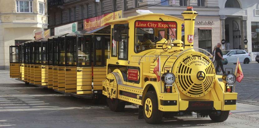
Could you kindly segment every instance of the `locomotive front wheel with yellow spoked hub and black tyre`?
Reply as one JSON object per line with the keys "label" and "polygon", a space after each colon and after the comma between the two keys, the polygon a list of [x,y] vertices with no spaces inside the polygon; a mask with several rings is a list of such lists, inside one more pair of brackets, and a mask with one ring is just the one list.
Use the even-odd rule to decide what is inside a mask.
{"label": "locomotive front wheel with yellow spoked hub and black tyre", "polygon": [[158,110],[158,100],[155,91],[148,91],[143,106],[145,121],[149,124],[161,123],[163,112]]}

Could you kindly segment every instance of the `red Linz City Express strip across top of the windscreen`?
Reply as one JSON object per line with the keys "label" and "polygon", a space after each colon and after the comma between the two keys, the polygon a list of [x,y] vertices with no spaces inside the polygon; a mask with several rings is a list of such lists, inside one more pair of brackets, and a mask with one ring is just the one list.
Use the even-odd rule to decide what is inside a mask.
{"label": "red Linz City Express strip across top of the windscreen", "polygon": [[163,22],[163,21],[136,21],[135,27],[143,28],[175,28],[177,29],[176,22]]}

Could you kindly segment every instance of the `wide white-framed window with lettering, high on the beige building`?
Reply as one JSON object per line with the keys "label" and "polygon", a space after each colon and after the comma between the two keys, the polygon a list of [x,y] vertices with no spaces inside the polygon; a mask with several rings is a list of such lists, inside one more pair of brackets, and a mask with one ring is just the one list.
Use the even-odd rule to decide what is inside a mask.
{"label": "wide white-framed window with lettering, high on the beige building", "polygon": [[32,1],[16,1],[17,12],[32,12]]}

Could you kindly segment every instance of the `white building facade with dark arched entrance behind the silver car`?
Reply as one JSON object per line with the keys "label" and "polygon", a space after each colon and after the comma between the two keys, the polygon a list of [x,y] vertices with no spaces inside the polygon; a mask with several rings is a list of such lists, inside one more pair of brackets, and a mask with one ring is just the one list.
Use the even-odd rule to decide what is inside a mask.
{"label": "white building facade with dark arched entrance behind the silver car", "polygon": [[243,49],[251,58],[259,54],[259,1],[219,0],[221,39],[227,49]]}

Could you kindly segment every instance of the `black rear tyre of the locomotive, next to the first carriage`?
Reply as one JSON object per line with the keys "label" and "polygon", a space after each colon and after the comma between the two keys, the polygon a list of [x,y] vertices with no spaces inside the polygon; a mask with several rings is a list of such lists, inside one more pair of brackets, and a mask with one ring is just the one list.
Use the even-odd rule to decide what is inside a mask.
{"label": "black rear tyre of the locomotive, next to the first carriage", "polygon": [[121,101],[119,99],[111,99],[111,98],[106,98],[107,100],[107,104],[110,108],[111,111],[115,111],[115,112],[120,112],[123,111],[125,108],[125,102]]}

